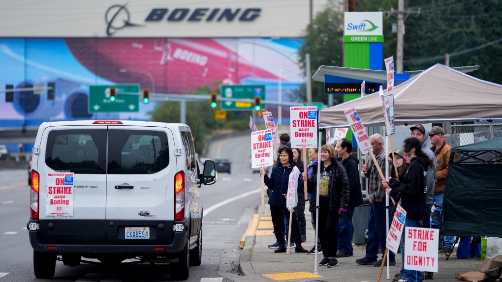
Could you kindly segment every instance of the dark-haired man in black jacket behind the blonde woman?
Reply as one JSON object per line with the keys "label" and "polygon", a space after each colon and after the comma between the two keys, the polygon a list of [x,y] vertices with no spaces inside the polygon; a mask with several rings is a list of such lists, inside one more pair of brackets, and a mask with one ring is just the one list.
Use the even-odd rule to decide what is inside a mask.
{"label": "dark-haired man in black jacket behind the blonde woman", "polygon": [[359,181],[359,160],[350,154],[352,151],[352,141],[342,138],[336,143],[336,152],[341,158],[341,165],[347,171],[350,196],[348,198],[347,212],[340,217],[338,227],[338,252],[336,257],[347,257],[354,255],[352,248],[352,236],[354,234],[354,223],[352,216],[356,206],[362,204],[361,183]]}

